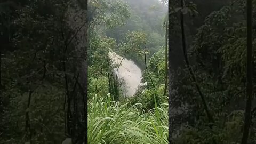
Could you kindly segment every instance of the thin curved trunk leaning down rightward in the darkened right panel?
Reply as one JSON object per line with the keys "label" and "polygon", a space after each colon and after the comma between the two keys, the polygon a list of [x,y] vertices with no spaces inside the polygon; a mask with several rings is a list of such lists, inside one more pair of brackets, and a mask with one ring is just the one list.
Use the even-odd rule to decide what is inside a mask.
{"label": "thin curved trunk leaning down rightward in the darkened right panel", "polygon": [[[181,0],[181,7],[183,8],[183,0]],[[183,13],[182,11],[180,12],[180,25],[181,25],[181,35],[182,35],[182,47],[183,47],[183,55],[184,55],[184,58],[185,58],[185,62],[186,62],[186,67],[188,68],[189,70],[189,73],[191,74],[191,77],[193,79],[193,81],[195,82],[195,86],[196,86],[196,89],[202,99],[202,102],[203,102],[203,106],[204,106],[204,109],[205,109],[205,112],[206,112],[206,115],[209,119],[209,122],[214,122],[213,121],[213,117],[212,115],[210,114],[210,111],[209,111],[209,108],[207,106],[207,103],[205,101],[205,96],[204,94],[202,93],[200,87],[198,86],[197,84],[197,81],[196,81],[196,78],[195,78],[195,74],[193,72],[193,69],[190,67],[190,64],[189,64],[189,60],[188,60],[188,56],[187,56],[187,52],[186,52],[186,39],[185,39],[185,29],[184,29],[184,17],[183,17]]]}

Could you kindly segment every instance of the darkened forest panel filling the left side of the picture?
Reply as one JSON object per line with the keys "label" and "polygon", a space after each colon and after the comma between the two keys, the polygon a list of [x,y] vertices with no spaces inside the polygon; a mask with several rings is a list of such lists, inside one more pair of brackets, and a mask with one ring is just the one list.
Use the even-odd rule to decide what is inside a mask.
{"label": "darkened forest panel filling the left side of the picture", "polygon": [[86,15],[82,0],[0,1],[0,143],[87,141]]}

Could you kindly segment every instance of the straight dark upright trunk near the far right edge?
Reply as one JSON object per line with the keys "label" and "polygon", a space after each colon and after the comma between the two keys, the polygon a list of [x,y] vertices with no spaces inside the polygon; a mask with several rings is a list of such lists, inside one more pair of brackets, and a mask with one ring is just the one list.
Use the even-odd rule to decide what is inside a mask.
{"label": "straight dark upright trunk near the far right edge", "polygon": [[247,87],[246,108],[242,144],[247,144],[251,123],[252,107],[252,0],[247,0]]}

